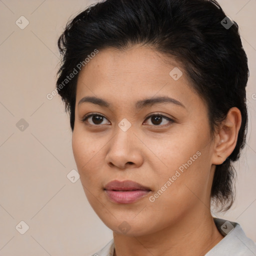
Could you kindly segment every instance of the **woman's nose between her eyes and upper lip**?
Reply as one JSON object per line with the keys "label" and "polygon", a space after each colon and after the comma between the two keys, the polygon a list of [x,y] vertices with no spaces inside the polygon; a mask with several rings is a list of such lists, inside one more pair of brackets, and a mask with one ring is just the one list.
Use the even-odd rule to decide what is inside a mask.
{"label": "woman's nose between her eyes and upper lip", "polygon": [[127,131],[117,128],[116,134],[108,143],[106,162],[110,167],[119,169],[136,168],[143,162],[141,141],[132,129]]}

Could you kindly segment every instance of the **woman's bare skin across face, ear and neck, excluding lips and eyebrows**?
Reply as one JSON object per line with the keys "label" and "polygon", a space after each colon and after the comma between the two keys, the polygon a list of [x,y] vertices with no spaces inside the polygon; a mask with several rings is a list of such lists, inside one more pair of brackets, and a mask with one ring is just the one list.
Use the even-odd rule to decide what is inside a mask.
{"label": "woman's bare skin across face, ear and neck, excluding lips and eyebrows", "polygon": [[[207,107],[191,88],[182,67],[148,46],[125,51],[100,50],[80,71],[72,134],[74,159],[86,197],[100,219],[113,230],[115,255],[204,255],[223,236],[210,213],[210,188],[215,164],[233,151],[241,123],[233,107],[211,140]],[[183,75],[169,72],[178,66]],[[135,102],[169,96],[184,107],[158,103],[135,109]],[[84,96],[105,99],[112,107],[84,102]],[[85,114],[103,115],[101,122]],[[155,113],[165,118],[155,124]],[[126,118],[127,131],[118,123]],[[169,177],[197,151],[201,154],[155,201],[149,201]],[[111,180],[130,179],[151,191],[136,202],[114,203],[103,187]],[[130,228],[124,233],[118,226]]]}

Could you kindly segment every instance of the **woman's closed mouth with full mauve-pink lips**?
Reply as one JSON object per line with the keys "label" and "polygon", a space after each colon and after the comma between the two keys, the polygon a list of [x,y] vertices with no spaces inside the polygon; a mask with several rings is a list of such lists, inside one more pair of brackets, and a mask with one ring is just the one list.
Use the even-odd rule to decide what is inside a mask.
{"label": "woman's closed mouth with full mauve-pink lips", "polygon": [[131,180],[113,180],[105,185],[104,191],[111,202],[132,203],[146,196],[151,189]]}

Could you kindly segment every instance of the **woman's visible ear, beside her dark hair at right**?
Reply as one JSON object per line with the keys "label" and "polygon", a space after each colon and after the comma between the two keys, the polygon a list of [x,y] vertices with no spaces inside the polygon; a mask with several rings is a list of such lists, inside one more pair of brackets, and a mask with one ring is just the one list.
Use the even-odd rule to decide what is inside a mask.
{"label": "woman's visible ear, beside her dark hair at right", "polygon": [[241,126],[241,112],[237,107],[229,109],[214,138],[212,164],[221,164],[235,148]]}

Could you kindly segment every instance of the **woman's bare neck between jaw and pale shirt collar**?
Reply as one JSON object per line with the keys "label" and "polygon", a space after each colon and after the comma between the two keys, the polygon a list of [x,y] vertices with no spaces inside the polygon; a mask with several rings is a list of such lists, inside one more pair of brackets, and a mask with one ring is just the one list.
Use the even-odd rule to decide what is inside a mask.
{"label": "woman's bare neck between jaw and pale shirt collar", "polygon": [[203,256],[223,238],[209,210],[200,215],[197,211],[151,234],[127,236],[113,232],[113,237],[114,256]]}

